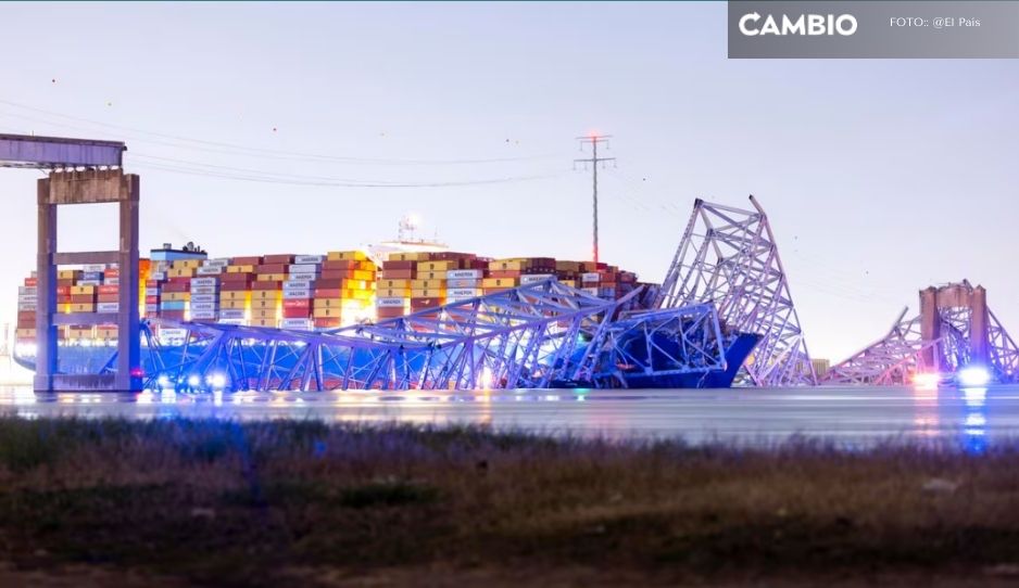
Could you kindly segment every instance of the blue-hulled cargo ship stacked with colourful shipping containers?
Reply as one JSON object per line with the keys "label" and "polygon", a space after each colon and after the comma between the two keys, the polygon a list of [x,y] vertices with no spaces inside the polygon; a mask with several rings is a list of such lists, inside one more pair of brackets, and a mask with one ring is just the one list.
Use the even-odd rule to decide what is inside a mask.
{"label": "blue-hulled cargo ship stacked with colourful shipping containers", "polygon": [[[179,329],[163,327],[163,322],[326,331],[427,311],[550,279],[604,299],[618,299],[641,285],[636,273],[608,264],[552,257],[493,259],[403,234],[363,251],[229,258],[210,257],[192,243],[181,247],[167,243],[152,250],[139,270],[139,314],[143,320],[161,319],[151,320],[152,335],[163,351],[171,353],[183,345],[175,332]],[[28,369],[34,369],[36,355],[35,285],[36,278],[29,276],[18,290],[13,355]],[[62,267],[58,271],[58,310],[116,312],[118,289],[116,266]],[[58,336],[59,372],[96,373],[113,357],[117,330],[114,324],[66,325],[59,328]],[[726,353],[729,369],[725,371],[667,381],[621,373],[619,384],[727,387],[756,344],[755,336],[730,337]]]}

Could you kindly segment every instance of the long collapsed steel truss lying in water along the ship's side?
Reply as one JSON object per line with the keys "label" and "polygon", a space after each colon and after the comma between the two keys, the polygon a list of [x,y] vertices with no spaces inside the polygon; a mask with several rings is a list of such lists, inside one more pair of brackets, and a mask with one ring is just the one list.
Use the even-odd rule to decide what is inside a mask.
{"label": "long collapsed steel truss lying in water along the ship's side", "polygon": [[171,323],[168,348],[143,330],[147,387],[225,389],[442,389],[548,387],[590,380],[599,341],[617,307],[555,280],[327,332],[218,323]]}

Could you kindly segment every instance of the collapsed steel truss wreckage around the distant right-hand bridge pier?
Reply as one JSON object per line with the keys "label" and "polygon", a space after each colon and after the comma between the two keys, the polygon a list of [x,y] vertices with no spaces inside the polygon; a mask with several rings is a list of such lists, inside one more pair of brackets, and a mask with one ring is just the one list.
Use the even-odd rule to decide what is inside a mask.
{"label": "collapsed steel truss wreckage around the distant right-hand bridge pier", "polygon": [[[954,372],[970,362],[968,308],[939,309],[944,334],[930,341],[924,341],[920,334],[920,316],[906,319],[908,311],[908,308],[903,309],[883,337],[832,366],[822,383],[904,385],[909,384],[916,373]],[[994,312],[989,310],[987,314],[989,367],[998,381],[1019,382],[1019,347]],[[938,366],[928,365],[923,359],[924,351],[931,348],[940,353]]]}

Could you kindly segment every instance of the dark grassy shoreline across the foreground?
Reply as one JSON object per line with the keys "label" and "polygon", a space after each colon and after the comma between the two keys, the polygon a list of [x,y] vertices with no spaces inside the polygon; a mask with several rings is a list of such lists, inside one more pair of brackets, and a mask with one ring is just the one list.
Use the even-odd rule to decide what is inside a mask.
{"label": "dark grassy shoreline across the foreground", "polygon": [[1010,586],[1017,546],[1019,443],[0,417],[0,585]]}

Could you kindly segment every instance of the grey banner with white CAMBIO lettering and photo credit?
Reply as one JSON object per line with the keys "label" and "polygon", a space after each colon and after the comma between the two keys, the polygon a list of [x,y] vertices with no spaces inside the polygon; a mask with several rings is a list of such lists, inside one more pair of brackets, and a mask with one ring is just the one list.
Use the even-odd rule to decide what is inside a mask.
{"label": "grey banner with white CAMBIO lettering and photo credit", "polygon": [[731,1],[729,59],[1019,57],[1019,0]]}

